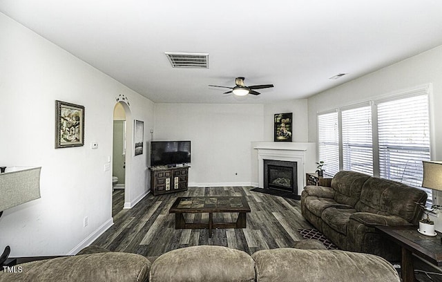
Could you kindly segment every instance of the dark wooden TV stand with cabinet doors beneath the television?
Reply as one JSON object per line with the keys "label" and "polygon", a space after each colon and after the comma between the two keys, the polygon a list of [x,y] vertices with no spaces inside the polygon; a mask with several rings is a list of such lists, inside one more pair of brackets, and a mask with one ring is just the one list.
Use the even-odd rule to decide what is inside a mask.
{"label": "dark wooden TV stand with cabinet doors beneath the television", "polygon": [[189,166],[149,167],[153,196],[186,191],[189,181]]}

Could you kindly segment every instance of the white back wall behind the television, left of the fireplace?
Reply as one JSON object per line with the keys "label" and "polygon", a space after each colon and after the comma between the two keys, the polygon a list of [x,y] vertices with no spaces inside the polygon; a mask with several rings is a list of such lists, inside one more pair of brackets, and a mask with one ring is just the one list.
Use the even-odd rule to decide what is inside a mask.
{"label": "white back wall behind the television, left of the fireplace", "polygon": [[263,124],[257,104],[155,104],[154,140],[191,140],[190,186],[250,185]]}

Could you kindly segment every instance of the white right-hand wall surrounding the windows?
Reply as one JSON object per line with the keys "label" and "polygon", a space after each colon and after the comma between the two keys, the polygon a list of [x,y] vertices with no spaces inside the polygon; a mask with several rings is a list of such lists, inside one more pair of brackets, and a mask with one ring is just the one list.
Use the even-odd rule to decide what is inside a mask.
{"label": "white right-hand wall surrounding the windows", "polygon": [[[442,46],[428,50],[397,64],[388,66],[365,75],[352,82],[330,89],[308,99],[309,105],[309,141],[316,142],[316,113],[339,106],[356,104],[374,97],[388,95],[422,84],[432,84],[432,108],[434,149],[433,160],[442,160]],[[439,194],[441,194],[439,192]],[[439,205],[441,205],[439,195]],[[436,229],[442,231],[442,216],[436,220]]]}

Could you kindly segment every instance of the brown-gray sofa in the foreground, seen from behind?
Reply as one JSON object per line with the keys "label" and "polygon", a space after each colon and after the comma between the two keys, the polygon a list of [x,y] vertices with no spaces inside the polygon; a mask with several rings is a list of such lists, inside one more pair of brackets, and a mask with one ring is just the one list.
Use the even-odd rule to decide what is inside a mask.
{"label": "brown-gray sofa in the foreground, seen from behind", "polygon": [[0,272],[0,281],[401,281],[390,263],[371,254],[281,248],[261,250],[250,256],[213,245],[184,247],[151,261],[139,254],[106,252],[100,248],[91,252],[88,247],[76,256],[17,267],[21,272]]}

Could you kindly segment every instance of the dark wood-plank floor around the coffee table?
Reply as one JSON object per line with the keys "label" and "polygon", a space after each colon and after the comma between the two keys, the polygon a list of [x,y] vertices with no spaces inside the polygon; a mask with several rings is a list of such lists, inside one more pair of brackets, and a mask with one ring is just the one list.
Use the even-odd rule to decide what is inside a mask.
{"label": "dark wood-plank floor around the coffee table", "polygon": [[[302,240],[298,229],[311,228],[302,218],[298,200],[250,191],[253,187],[189,187],[188,191],[144,197],[132,209],[120,209],[124,203],[122,191],[115,189],[114,225],[93,245],[111,251],[132,252],[144,256],[160,256],[170,250],[194,245],[223,245],[253,254],[258,250],[291,247]],[[175,230],[175,214],[169,209],[177,197],[184,196],[245,196],[251,208],[247,228]],[[119,202],[119,203],[118,203]],[[214,222],[231,222],[237,213],[213,214]],[[209,214],[186,214],[189,222],[207,222]]]}

